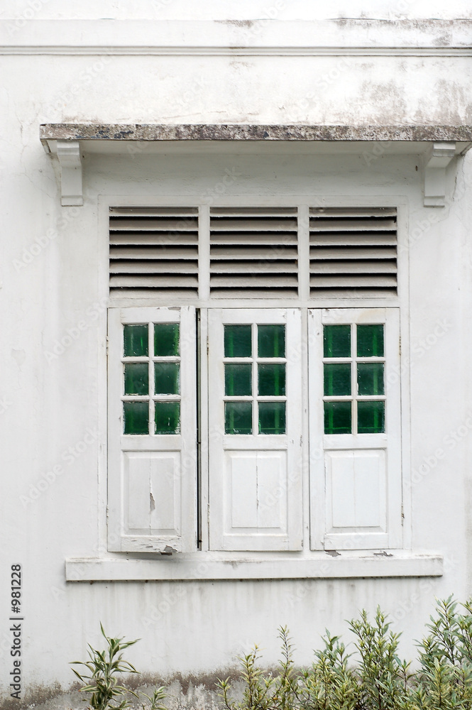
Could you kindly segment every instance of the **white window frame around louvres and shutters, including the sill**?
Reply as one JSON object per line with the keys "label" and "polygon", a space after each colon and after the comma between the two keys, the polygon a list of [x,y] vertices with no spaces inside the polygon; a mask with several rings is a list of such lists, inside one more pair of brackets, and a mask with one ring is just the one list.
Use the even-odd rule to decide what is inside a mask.
{"label": "white window frame around louvres and shutters, including the sill", "polygon": [[[133,196],[115,196],[102,195],[99,197],[99,222],[101,233],[101,254],[102,254],[102,272],[101,272],[101,293],[106,296],[108,283],[108,213],[110,206],[165,206],[175,204],[176,206],[187,206],[189,204],[203,204],[204,198],[190,200],[188,197],[168,195],[160,197],[138,197]],[[206,200],[208,202],[208,200]],[[300,248],[299,258],[308,258],[308,211],[309,206],[319,205],[319,200],[312,195],[302,196],[297,198],[281,197],[273,195],[273,197],[253,197],[253,195],[239,195],[236,197],[224,197],[221,200],[214,200],[212,203],[216,206],[260,206],[268,207],[270,205],[287,207],[299,207],[300,217]],[[357,197],[354,195],[339,195],[335,199],[324,199],[323,204],[326,207],[396,207],[397,208],[397,225],[398,225],[398,295],[396,298],[389,297],[388,299],[368,298],[368,299],[352,299],[341,298],[332,301],[310,300],[307,298],[308,283],[300,278],[301,295],[298,300],[290,301],[290,307],[300,307],[303,309],[317,307],[400,307],[402,311],[407,312],[408,295],[408,261],[407,261],[407,223],[406,223],[406,200],[405,197],[385,197],[385,195],[371,196],[366,199],[365,196]],[[208,206],[200,210],[200,228],[207,229],[209,217]],[[202,246],[200,253],[201,258],[205,257],[207,245]],[[202,285],[204,285],[204,280]],[[209,302],[208,297],[205,297],[204,289],[201,292],[202,300],[201,307],[214,306],[213,302]],[[207,293],[208,296],[208,293]],[[111,307],[146,307],[149,302],[146,300],[128,300],[128,302],[114,301],[110,302]],[[156,302],[153,307],[158,305],[168,305],[165,303]],[[221,308],[234,307],[234,303],[221,300],[218,303]],[[260,305],[260,304],[259,304]],[[238,303],[239,307],[256,307],[257,304],[251,300],[241,300]],[[271,300],[270,307],[287,307],[287,302],[282,300]],[[307,325],[306,318],[302,316],[303,327]],[[408,362],[408,327],[405,320],[400,322],[401,337],[402,337],[402,356],[404,361]],[[206,342],[207,333],[205,325],[202,324],[201,338],[202,342]],[[302,343],[301,358],[305,368],[307,367],[307,353]],[[101,371],[105,375],[104,367],[101,366]],[[410,474],[410,459],[409,459],[409,427],[408,418],[409,412],[409,377],[407,371],[401,373],[401,389],[402,389],[402,520],[403,520],[403,542],[402,546],[392,548],[389,552],[389,557],[373,557],[372,553],[366,550],[356,552],[356,550],[347,550],[346,554],[339,556],[326,556],[322,550],[309,550],[309,507],[307,491],[309,490],[309,473],[307,470],[308,454],[304,449],[304,474],[302,485],[304,489],[304,512],[303,512],[303,534],[304,547],[301,552],[247,552],[241,554],[236,551],[212,551],[209,549],[209,540],[206,532],[205,521],[208,515],[209,505],[209,489],[208,489],[208,468],[207,468],[207,447],[202,444],[200,452],[201,459],[201,481],[199,488],[199,510],[202,516],[202,544],[201,549],[190,554],[181,553],[172,555],[172,557],[151,555],[148,559],[127,559],[126,561],[121,556],[121,552],[114,552],[108,547],[109,552],[101,552],[99,557],[89,559],[70,559],[67,561],[66,571],[68,579],[241,579],[241,578],[304,578],[304,577],[397,577],[397,576],[421,576],[424,575],[440,575],[442,574],[442,558],[440,555],[425,555],[424,552],[416,554],[410,549],[411,545],[411,515],[410,515],[410,486],[408,479]],[[400,372],[398,373],[400,376]],[[207,386],[205,383],[205,373],[200,373],[200,382],[202,388]],[[105,378],[103,380],[103,388],[105,388]],[[307,408],[307,398],[305,393],[302,393],[302,407]],[[202,399],[202,407],[200,415],[202,421],[208,417],[208,411],[205,410],[206,405],[204,398]],[[101,420],[106,419],[106,412],[101,410]],[[104,466],[106,462],[105,456],[101,459],[101,498],[106,499],[106,476]],[[101,531],[103,533],[102,542],[99,542],[99,550],[106,549],[105,542],[106,520],[102,518]],[[391,557],[390,557],[391,555]],[[152,558],[152,559],[151,559]],[[157,562],[158,564],[155,564]],[[222,564],[223,563],[223,564]],[[388,564],[387,564],[388,563]]]}

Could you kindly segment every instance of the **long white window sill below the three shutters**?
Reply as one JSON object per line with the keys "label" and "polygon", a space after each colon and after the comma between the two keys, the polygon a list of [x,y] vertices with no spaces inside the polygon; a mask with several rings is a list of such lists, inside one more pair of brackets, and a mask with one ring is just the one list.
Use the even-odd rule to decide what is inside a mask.
{"label": "long white window sill below the three shutters", "polygon": [[[346,579],[441,577],[441,555],[412,552],[319,553],[311,559],[259,557],[218,559],[211,553],[136,559],[70,558],[66,581],[185,581],[200,579]],[[316,553],[315,553],[316,555]]]}

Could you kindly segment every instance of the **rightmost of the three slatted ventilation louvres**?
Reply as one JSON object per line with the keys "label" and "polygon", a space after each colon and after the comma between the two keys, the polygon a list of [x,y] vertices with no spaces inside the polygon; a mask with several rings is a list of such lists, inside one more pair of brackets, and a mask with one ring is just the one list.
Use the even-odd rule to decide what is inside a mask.
{"label": "rightmost of the three slatted ventilation louvres", "polygon": [[309,211],[310,296],[397,293],[397,211]]}

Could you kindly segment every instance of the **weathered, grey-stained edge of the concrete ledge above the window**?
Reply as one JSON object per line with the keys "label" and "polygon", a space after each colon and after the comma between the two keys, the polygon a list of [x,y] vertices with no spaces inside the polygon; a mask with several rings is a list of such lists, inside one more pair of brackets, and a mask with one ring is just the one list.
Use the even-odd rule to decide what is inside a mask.
{"label": "weathered, grey-stained edge of the concrete ledge above the window", "polygon": [[472,141],[472,126],[43,124],[47,141]]}

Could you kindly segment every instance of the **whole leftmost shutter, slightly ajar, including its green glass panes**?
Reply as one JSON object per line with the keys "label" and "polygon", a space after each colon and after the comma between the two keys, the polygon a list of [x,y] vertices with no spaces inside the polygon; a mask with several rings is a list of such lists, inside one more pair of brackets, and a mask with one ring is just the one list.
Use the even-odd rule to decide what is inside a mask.
{"label": "whole leftmost shutter, slightly ajar, including its green glass panes", "polygon": [[192,307],[109,310],[109,550],[197,549],[195,325]]}

